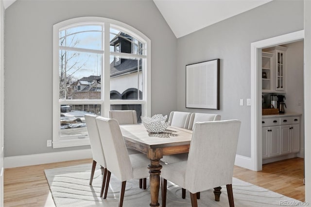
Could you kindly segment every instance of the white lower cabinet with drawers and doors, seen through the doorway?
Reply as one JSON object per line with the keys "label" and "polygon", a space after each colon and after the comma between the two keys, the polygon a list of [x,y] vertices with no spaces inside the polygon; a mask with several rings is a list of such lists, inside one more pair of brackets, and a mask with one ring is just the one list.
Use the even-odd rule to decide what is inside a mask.
{"label": "white lower cabinet with drawers and doors, seen through the doorway", "polygon": [[287,155],[300,151],[300,118],[262,119],[262,158]]}

